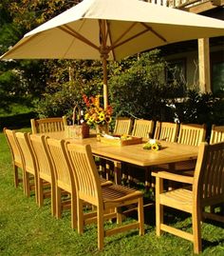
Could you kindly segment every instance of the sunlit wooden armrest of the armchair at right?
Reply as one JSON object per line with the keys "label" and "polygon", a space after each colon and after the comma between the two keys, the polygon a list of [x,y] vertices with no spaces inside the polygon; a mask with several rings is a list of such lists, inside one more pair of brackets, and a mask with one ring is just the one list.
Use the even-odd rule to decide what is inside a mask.
{"label": "sunlit wooden armrest of the armchair at right", "polygon": [[152,176],[159,177],[161,179],[175,181],[175,182],[181,182],[181,183],[193,184],[194,182],[194,177],[180,175],[180,174],[177,174],[177,172],[173,173],[173,172],[163,171],[163,170],[153,171]]}

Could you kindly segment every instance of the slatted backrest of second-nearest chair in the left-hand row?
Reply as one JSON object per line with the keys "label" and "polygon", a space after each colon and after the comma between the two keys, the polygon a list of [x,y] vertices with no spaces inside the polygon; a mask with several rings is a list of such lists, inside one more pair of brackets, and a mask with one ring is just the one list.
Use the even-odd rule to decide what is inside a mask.
{"label": "slatted backrest of second-nearest chair in the left-hand row", "polygon": [[65,149],[63,148],[65,141],[47,138],[46,142],[50,156],[49,161],[52,163],[58,187],[69,191],[73,183],[73,178],[71,169],[65,159]]}

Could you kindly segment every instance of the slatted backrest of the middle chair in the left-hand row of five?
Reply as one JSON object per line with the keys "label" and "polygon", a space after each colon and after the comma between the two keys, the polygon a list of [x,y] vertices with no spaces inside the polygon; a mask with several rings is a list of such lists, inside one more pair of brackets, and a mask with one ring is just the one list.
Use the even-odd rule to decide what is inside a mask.
{"label": "slatted backrest of the middle chair in the left-hand row of five", "polygon": [[47,157],[48,152],[45,135],[29,134],[29,140],[35,155],[40,178],[51,182],[52,175],[54,174],[50,166],[51,162],[48,161],[49,156]]}

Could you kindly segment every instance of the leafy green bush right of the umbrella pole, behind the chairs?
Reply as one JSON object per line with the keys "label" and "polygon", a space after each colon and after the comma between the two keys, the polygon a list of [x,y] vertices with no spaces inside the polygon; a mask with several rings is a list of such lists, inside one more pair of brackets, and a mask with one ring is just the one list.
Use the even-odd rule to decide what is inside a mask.
{"label": "leafy green bush right of the umbrella pole, behind the chairs", "polygon": [[[118,68],[109,80],[115,112],[121,115],[130,113],[145,119],[173,121],[173,113],[167,103],[169,98],[174,97],[176,88],[166,83],[165,69],[168,66],[159,56],[159,50],[132,57],[131,65],[127,65],[127,62],[128,59],[115,64]],[[123,66],[127,69],[122,69]]]}

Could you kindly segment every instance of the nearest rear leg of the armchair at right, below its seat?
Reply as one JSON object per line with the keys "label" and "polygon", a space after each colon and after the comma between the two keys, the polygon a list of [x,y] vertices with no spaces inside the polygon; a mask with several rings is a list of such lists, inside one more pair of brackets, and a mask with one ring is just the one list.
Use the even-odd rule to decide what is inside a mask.
{"label": "nearest rear leg of the armchair at right, below its seat", "polygon": [[196,209],[194,209],[192,214],[194,252],[196,254],[202,251],[200,221],[201,221],[201,214],[198,210],[198,207],[196,207]]}

